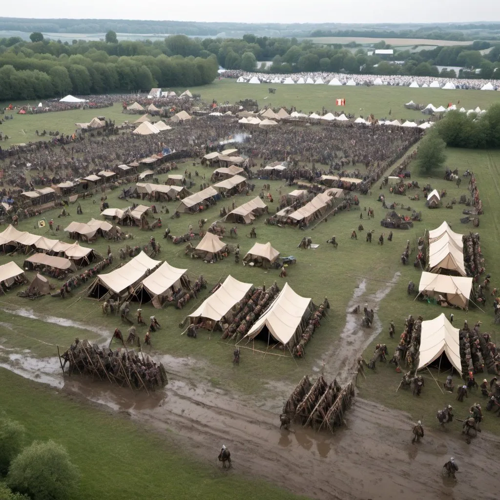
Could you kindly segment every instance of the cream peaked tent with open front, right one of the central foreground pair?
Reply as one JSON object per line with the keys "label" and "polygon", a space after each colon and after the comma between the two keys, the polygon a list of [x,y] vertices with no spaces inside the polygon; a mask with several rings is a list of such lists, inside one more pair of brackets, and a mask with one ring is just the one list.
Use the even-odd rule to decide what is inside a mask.
{"label": "cream peaked tent with open front, right one of the central foreground pair", "polygon": [[271,305],[243,338],[252,340],[260,332],[267,330],[274,340],[291,349],[306,327],[311,312],[312,300],[297,295],[285,283]]}

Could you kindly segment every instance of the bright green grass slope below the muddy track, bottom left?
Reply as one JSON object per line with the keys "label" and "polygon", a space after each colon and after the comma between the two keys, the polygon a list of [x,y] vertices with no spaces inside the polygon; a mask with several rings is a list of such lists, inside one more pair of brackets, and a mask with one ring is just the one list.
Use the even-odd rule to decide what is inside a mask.
{"label": "bright green grass slope below the muddy track, bottom left", "polygon": [[299,498],[263,481],[197,463],[182,454],[171,436],[126,416],[81,404],[4,368],[0,380],[2,411],[24,425],[27,444],[53,439],[79,467],[79,488],[71,492],[74,500]]}

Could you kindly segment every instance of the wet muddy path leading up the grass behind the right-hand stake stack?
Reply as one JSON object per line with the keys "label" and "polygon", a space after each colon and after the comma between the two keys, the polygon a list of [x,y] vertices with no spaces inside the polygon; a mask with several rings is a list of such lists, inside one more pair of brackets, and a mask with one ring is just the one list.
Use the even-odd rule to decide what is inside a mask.
{"label": "wet muddy path leading up the grass behind the right-hand stake stack", "polygon": [[[336,377],[338,382],[343,385],[355,377],[357,373],[357,357],[382,330],[377,314],[378,304],[394,286],[399,276],[400,273],[396,272],[390,282],[384,284],[372,294],[366,294],[365,279],[354,289],[345,311],[345,326],[338,340],[333,342],[324,355],[324,372],[329,375],[328,378]],[[373,309],[375,312],[371,328],[361,326],[365,304],[368,309]],[[357,314],[351,313],[357,305],[359,305],[360,311]],[[321,370],[322,364],[317,364],[314,369],[316,371]]]}

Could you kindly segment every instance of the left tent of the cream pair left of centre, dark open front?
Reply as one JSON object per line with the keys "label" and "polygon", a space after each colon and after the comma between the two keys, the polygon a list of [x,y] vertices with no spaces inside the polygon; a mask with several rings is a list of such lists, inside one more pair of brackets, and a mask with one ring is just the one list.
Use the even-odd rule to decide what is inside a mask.
{"label": "left tent of the cream pair left of centre, dark open front", "polygon": [[99,300],[107,293],[122,295],[124,291],[132,289],[151,271],[161,264],[161,260],[153,260],[141,251],[126,264],[117,269],[98,274],[88,287],[88,295]]}

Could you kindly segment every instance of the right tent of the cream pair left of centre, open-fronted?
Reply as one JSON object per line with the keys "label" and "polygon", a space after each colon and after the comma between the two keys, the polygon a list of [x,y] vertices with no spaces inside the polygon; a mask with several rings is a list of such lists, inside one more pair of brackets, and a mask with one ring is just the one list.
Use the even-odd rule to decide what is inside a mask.
{"label": "right tent of the cream pair left of centre, open-fronted", "polygon": [[152,305],[160,309],[178,289],[189,287],[186,272],[187,269],[172,267],[168,262],[163,262],[142,280],[134,294],[140,296],[141,302],[151,300]]}

